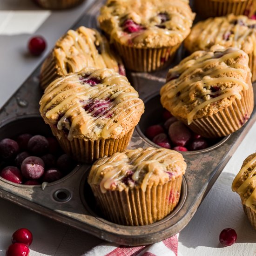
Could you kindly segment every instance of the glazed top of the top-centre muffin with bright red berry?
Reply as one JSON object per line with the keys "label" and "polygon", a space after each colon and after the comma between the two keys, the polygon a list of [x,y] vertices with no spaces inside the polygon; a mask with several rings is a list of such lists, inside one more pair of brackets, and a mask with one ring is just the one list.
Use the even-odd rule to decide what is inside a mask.
{"label": "glazed top of the top-centre muffin with bright red berry", "polygon": [[194,17],[187,0],[108,0],[98,20],[121,44],[158,48],[181,43]]}

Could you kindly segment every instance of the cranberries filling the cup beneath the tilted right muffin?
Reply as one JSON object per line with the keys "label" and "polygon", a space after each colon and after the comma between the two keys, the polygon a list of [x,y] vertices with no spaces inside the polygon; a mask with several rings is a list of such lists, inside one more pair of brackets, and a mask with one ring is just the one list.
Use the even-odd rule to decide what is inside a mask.
{"label": "cranberries filling the cup beneath the tilted right muffin", "polygon": [[167,110],[162,113],[161,123],[146,129],[146,136],[162,148],[172,148],[177,151],[200,150],[217,142],[195,134]]}

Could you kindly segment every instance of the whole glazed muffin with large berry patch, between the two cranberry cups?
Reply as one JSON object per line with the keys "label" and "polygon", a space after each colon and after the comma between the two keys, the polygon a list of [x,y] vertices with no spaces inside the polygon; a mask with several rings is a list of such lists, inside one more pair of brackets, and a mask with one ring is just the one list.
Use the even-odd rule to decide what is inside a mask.
{"label": "whole glazed muffin with large berry patch, between the two cranberry cups", "polygon": [[144,112],[127,78],[113,69],[84,68],[53,81],[40,113],[63,150],[80,162],[123,151]]}

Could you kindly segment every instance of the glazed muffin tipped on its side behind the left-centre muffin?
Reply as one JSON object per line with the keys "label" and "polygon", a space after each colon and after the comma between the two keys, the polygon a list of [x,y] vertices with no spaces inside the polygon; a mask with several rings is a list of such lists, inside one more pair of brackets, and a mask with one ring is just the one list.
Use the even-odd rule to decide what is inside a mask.
{"label": "glazed muffin tipped on its side behind the left-centre muffin", "polygon": [[55,79],[84,67],[108,67],[125,75],[121,59],[110,50],[106,38],[95,29],[79,27],[56,42],[41,67],[40,85],[45,89]]}

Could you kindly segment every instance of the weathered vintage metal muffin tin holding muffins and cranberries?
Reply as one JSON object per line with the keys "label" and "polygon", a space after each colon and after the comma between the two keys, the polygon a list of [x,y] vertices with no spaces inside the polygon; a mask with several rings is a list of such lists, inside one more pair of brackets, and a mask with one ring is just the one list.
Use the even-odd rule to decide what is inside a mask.
{"label": "weathered vintage metal muffin tin holding muffins and cranberries", "polygon": [[[74,28],[81,25],[96,27],[95,15],[101,5],[102,0],[95,1]],[[177,53],[176,63],[181,60],[182,52],[181,49]],[[145,102],[145,113],[135,128],[129,148],[157,147],[143,135],[143,131],[159,118],[161,105],[158,93],[167,71],[168,68],[151,74],[128,74],[129,81]],[[42,95],[39,72],[40,67],[1,108],[0,139],[27,132],[45,135],[51,133],[39,115],[38,102]],[[236,133],[210,148],[183,154],[188,168],[182,182],[180,202],[169,216],[154,224],[131,227],[104,219],[95,207],[92,192],[87,184],[90,165],[85,164],[77,165],[69,175],[45,187],[16,185],[0,178],[0,196],[107,241],[123,245],[155,243],[176,234],[188,224],[255,120],[254,111],[247,124]]]}

